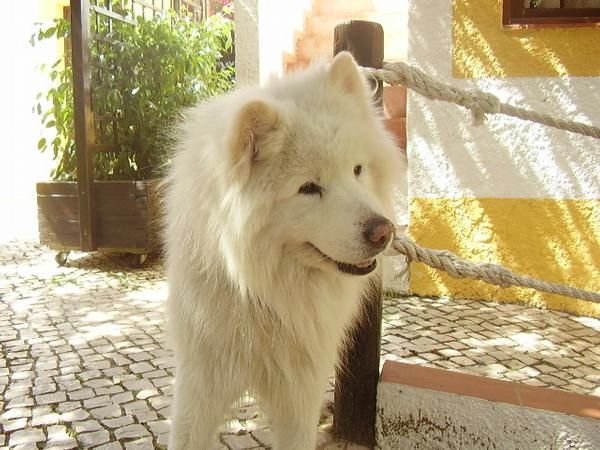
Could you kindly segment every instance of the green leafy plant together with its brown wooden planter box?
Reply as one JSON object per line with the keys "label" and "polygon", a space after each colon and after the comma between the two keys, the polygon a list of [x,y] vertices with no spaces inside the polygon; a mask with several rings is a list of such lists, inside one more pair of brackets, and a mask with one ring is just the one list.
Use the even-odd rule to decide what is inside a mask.
{"label": "green leafy plant together with its brown wooden planter box", "polygon": [[[86,139],[77,139],[75,119],[86,110],[78,110],[73,81],[86,68],[71,58],[68,46],[65,58],[48,69],[52,87],[38,94],[35,109],[54,131],[38,148],[52,151],[56,162],[53,181],[37,184],[40,241],[58,250],[59,264],[75,249],[128,252],[143,263],[156,246],[156,177],[168,162],[169,125],[182,108],[233,85],[233,66],[223,62],[232,48],[231,11],[196,22],[173,11],[132,19],[135,9],[120,0],[106,10],[82,10],[98,15],[83,21],[91,24],[89,42],[76,47],[68,18],[32,38],[64,39],[89,51],[91,63],[91,99],[83,100],[91,106],[93,126]],[[82,155],[90,157],[87,166]]]}

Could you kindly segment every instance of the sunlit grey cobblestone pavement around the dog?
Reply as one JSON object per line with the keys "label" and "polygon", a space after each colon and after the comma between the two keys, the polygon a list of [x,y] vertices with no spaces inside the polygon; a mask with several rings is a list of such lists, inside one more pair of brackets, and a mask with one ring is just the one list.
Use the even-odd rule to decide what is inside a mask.
{"label": "sunlit grey cobblestone pavement around the dog", "polygon": [[[161,264],[0,244],[0,449],[164,448],[173,357]],[[515,305],[388,298],[387,359],[600,395],[600,320]],[[332,388],[319,440],[331,444]],[[214,449],[269,448],[251,399]]]}

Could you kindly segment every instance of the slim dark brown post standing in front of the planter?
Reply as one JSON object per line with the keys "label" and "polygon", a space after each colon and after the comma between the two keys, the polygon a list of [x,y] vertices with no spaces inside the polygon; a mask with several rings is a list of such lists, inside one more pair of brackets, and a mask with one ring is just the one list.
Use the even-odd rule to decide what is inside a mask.
{"label": "slim dark brown post standing in front of the planter", "polygon": [[96,250],[96,213],[94,207],[92,117],[90,66],[89,0],[71,0],[71,43],[73,61],[73,101],[77,187],[79,196],[79,235],[81,250]]}

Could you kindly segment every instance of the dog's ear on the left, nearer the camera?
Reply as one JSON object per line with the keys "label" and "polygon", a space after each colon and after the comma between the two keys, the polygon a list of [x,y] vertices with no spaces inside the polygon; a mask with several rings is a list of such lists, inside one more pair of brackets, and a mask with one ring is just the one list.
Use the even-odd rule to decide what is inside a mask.
{"label": "dog's ear on the left, nearer the camera", "polygon": [[234,165],[256,161],[266,154],[262,146],[279,127],[280,114],[275,105],[262,100],[246,103],[234,119],[231,157]]}

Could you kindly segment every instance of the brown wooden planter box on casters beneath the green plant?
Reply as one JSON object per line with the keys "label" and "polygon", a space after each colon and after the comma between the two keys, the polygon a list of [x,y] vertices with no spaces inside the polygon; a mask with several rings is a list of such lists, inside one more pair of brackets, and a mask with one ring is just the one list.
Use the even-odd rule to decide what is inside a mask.
{"label": "brown wooden planter box on casters beneath the green plant", "polygon": [[[95,181],[94,189],[95,250],[147,255],[158,247],[156,180]],[[80,250],[77,183],[37,183],[37,203],[40,242],[63,253]]]}

